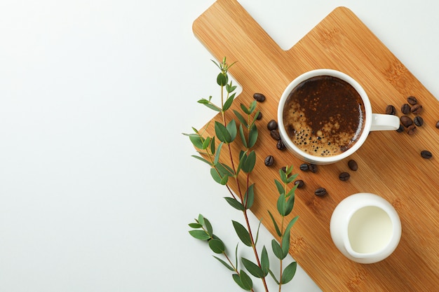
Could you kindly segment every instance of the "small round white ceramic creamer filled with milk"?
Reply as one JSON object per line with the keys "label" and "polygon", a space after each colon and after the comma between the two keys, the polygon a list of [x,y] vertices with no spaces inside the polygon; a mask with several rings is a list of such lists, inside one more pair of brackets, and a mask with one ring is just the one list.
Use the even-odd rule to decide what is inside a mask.
{"label": "small round white ceramic creamer filled with milk", "polygon": [[346,197],[332,213],[332,241],[357,263],[377,263],[400,242],[401,223],[395,208],[379,195],[358,193]]}

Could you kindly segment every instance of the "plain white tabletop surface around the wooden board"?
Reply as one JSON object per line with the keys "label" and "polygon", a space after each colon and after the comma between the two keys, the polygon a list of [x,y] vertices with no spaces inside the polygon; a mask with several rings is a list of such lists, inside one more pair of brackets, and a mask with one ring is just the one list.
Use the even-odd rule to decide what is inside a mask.
{"label": "plain white tabletop surface around the wooden board", "polygon": [[[0,292],[240,291],[187,226],[238,242],[181,134],[213,115],[191,31],[213,2],[0,2]],[[347,6],[439,97],[438,1],[239,2],[284,49]],[[299,270],[284,291],[320,290]]]}

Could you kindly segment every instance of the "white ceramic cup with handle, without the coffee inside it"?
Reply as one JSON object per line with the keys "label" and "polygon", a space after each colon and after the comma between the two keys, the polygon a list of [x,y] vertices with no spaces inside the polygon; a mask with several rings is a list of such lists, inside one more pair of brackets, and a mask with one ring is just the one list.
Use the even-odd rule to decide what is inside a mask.
{"label": "white ceramic cup with handle, without the coffee inside it", "polygon": [[[283,111],[285,102],[287,101],[292,90],[294,90],[297,85],[299,85],[303,81],[306,81],[309,78],[316,76],[333,76],[342,79],[342,81],[346,81],[347,83],[352,85],[352,87],[358,92],[361,99],[363,100],[365,113],[363,131],[360,133],[360,136],[358,137],[356,142],[349,149],[337,155],[318,156],[302,151],[302,149],[296,146],[295,143],[290,139],[283,123]],[[399,125],[400,120],[397,116],[372,113],[372,106],[370,105],[369,97],[367,97],[367,94],[363,87],[351,76],[344,74],[341,71],[332,69],[316,69],[312,71],[307,71],[304,74],[298,76],[287,86],[287,88],[285,88],[285,91],[283,92],[278,104],[278,130],[279,134],[281,134],[281,139],[283,143],[298,158],[306,162],[318,165],[327,165],[337,162],[356,152],[358,148],[363,145],[370,131],[397,130]]]}

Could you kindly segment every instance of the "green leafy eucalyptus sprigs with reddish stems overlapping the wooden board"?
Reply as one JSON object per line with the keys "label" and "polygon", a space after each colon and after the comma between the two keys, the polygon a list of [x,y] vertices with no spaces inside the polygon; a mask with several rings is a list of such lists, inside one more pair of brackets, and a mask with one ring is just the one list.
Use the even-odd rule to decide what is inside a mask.
{"label": "green leafy eucalyptus sprigs with reddish stems overlapping the wooden board", "polygon": [[[206,132],[209,124],[206,125],[201,132],[198,132],[198,130],[193,127],[192,130],[194,130],[194,132],[185,135],[189,137],[191,143],[194,144],[194,146],[198,149],[198,153],[200,154],[193,155],[194,158],[210,165],[210,175],[212,176],[212,179],[214,179],[217,183],[226,186],[227,190],[229,190],[231,196],[224,197],[224,199],[231,205],[231,207],[234,207],[234,209],[242,211],[243,213],[245,225],[242,225],[238,221],[232,221],[232,225],[234,226],[236,235],[238,235],[241,242],[245,244],[245,246],[252,248],[256,261],[256,263],[254,263],[252,260],[248,260],[247,258],[241,258],[243,267],[253,277],[262,280],[262,284],[264,285],[266,292],[269,291],[269,288],[266,284],[266,276],[271,274],[274,281],[276,281],[276,283],[279,285],[279,291],[281,291],[281,285],[287,283],[292,279],[292,277],[294,277],[296,267],[294,262],[288,265],[288,267],[285,267],[283,270],[283,259],[288,255],[290,246],[290,229],[297,220],[297,217],[293,218],[284,229],[284,218],[292,211],[295,190],[295,188],[292,188],[287,193],[287,185],[288,183],[291,183],[297,175],[292,176],[292,168],[287,167],[285,172],[280,172],[281,181],[283,183],[275,180],[276,187],[280,193],[277,207],[282,217],[281,228],[279,228],[274,217],[271,213],[269,213],[281,242],[279,244],[275,239],[273,239],[271,242],[273,253],[277,258],[279,258],[281,267],[279,279],[276,279],[273,272],[270,270],[269,256],[265,246],[262,246],[262,251],[260,253],[257,251],[257,239],[259,236],[259,227],[261,221],[259,221],[259,226],[255,236],[252,232],[252,226],[250,225],[250,220],[248,218],[248,210],[252,207],[252,204],[255,200],[255,184],[250,185],[250,174],[252,173],[257,160],[256,153],[254,150],[252,150],[253,146],[255,146],[257,143],[258,138],[256,122],[257,117],[259,116],[259,111],[256,111],[257,102],[250,102],[248,107],[244,104],[241,104],[240,107],[243,113],[233,110],[236,119],[227,116],[227,112],[231,108],[236,95],[234,92],[236,90],[236,85],[233,85],[231,81],[229,82],[228,76],[230,67],[235,63],[230,65],[227,64],[225,57],[222,62],[212,62],[214,62],[220,70],[219,74],[217,75],[217,85],[219,85],[221,88],[221,104],[214,104],[212,102],[212,96],[210,96],[208,99],[199,99],[198,103],[204,104],[209,109],[221,113],[222,121],[214,122],[215,136],[205,136],[204,133]],[[234,143],[236,137],[241,139],[243,146],[238,157],[234,156],[231,147],[231,144]],[[227,165],[220,160],[220,155],[224,145],[227,148],[227,155],[229,155],[230,165]],[[236,195],[229,186],[229,178],[234,179],[236,183]],[[245,191],[243,191],[244,186]],[[221,239],[213,234],[212,225],[208,219],[202,215],[199,215],[198,219],[195,220],[195,223],[190,223],[189,226],[193,228],[193,230],[189,231],[193,237],[205,240],[208,242],[210,249],[214,253],[222,254],[225,260],[217,256],[214,257],[225,267],[227,267],[227,269],[233,272],[232,278],[236,284],[246,291],[253,291],[252,278],[247,274],[247,272],[245,272],[245,270],[238,268],[238,245],[236,245],[235,263],[232,263],[229,255],[226,252],[224,243],[221,241]]]}

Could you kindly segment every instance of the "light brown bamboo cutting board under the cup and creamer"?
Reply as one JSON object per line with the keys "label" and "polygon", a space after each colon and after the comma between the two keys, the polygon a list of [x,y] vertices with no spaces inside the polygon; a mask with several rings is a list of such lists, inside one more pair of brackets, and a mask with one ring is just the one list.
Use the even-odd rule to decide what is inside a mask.
{"label": "light brown bamboo cutting board under the cup and creamer", "polygon": [[[266,228],[276,234],[267,214],[267,210],[277,213],[278,193],[273,179],[278,178],[279,168],[294,165],[294,172],[306,186],[296,191],[291,216],[298,214],[300,218],[292,230],[290,253],[318,286],[323,291],[435,291],[439,286],[438,100],[348,8],[336,8],[288,51],[279,48],[234,0],[215,2],[195,20],[193,29],[217,60],[227,56],[229,62],[238,61],[229,71],[243,87],[234,109],[241,103],[248,105],[255,92],[266,95],[266,101],[258,104],[263,118],[257,124],[258,160],[252,173],[256,202],[252,212],[264,218]],[[386,106],[393,104],[401,116],[400,106],[407,97],[417,97],[424,106],[420,115],[424,125],[411,136],[396,131],[370,133],[350,157],[358,162],[356,172],[349,170],[349,159],[320,166],[315,174],[301,172],[302,161],[278,151],[266,123],[276,120],[278,99],[288,83],[304,71],[318,68],[338,69],[356,78],[376,113],[384,113]],[[215,133],[212,124],[209,135]],[[238,150],[237,146],[233,148],[236,155]],[[433,158],[421,158],[422,150],[431,151]],[[266,155],[273,155],[276,164],[266,167]],[[351,179],[340,181],[340,172],[349,172]],[[325,197],[314,195],[319,187],[327,189]],[[236,192],[236,186],[232,188]],[[389,200],[403,225],[396,251],[370,265],[342,256],[329,231],[337,204],[360,192]]]}

